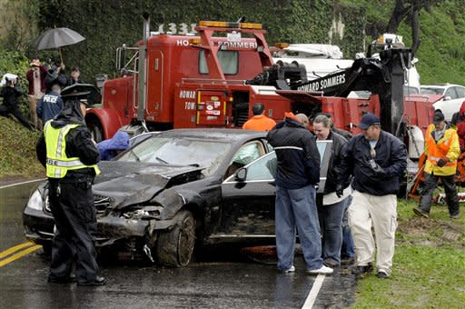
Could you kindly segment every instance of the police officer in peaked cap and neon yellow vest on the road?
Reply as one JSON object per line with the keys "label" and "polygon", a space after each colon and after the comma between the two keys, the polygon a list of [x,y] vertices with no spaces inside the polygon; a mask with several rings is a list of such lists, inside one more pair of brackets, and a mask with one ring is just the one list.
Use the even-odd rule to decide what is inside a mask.
{"label": "police officer in peaked cap and neon yellow vest on the road", "polygon": [[64,109],[45,123],[36,145],[37,158],[46,168],[56,226],[50,283],[105,284],[105,278],[97,275],[92,237],[96,228],[92,184],[100,174],[96,165],[100,153],[84,122],[91,87],[76,84],[63,89]]}

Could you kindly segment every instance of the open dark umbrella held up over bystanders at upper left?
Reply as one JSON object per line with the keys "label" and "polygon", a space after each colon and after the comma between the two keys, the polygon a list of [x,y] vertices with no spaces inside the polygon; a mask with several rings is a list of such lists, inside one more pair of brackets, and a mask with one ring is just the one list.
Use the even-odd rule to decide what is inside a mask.
{"label": "open dark umbrella held up over bystanders at upper left", "polygon": [[45,33],[37,38],[35,41],[35,49],[43,50],[58,48],[60,58],[63,62],[60,47],[65,45],[74,45],[84,40],[85,37],[83,35],[79,35],[74,30],[69,28],[54,28],[45,31]]}

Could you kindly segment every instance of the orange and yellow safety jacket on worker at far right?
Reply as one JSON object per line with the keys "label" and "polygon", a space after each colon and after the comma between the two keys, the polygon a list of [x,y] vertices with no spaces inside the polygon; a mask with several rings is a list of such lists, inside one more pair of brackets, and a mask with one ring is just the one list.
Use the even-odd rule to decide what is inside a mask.
{"label": "orange and yellow safety jacket on worker at far right", "polygon": [[[434,128],[434,125],[430,125],[426,130],[425,154],[428,156],[425,164],[425,172],[440,176],[455,174],[457,170],[457,159],[460,155],[459,135],[457,135],[457,131],[449,128],[446,129],[440,140],[436,142],[431,135]],[[438,161],[445,157],[449,158],[450,162],[442,167],[438,166]]]}

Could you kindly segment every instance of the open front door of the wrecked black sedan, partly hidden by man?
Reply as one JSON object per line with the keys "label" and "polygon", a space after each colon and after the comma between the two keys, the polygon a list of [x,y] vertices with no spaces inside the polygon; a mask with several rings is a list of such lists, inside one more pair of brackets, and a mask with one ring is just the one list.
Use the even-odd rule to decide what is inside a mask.
{"label": "open front door of the wrecked black sedan, partly hidden by man", "polygon": [[[318,141],[321,156],[319,191],[326,182],[331,141]],[[222,184],[222,214],[219,233],[223,237],[274,236],[276,155],[265,154],[237,170]]]}

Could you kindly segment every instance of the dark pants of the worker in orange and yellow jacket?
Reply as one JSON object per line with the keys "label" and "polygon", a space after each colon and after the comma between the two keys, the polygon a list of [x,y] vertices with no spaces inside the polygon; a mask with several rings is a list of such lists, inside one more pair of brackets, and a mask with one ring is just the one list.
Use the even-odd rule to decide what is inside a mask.
{"label": "dark pants of the worker in orange and yellow jacket", "polygon": [[449,207],[449,214],[455,215],[460,212],[459,195],[457,194],[457,185],[454,182],[454,175],[439,176],[437,174],[425,173],[425,182],[423,183],[420,197],[420,209],[430,214],[432,194],[438,185],[439,179],[444,184],[446,202]]}

